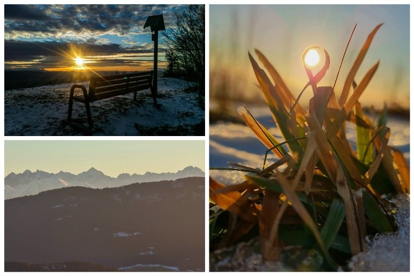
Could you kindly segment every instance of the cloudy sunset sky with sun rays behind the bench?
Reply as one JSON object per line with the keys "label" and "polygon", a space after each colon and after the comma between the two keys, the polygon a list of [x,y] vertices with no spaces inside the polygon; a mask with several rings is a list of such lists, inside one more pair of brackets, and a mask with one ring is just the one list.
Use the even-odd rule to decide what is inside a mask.
{"label": "cloudy sunset sky with sun rays behind the bench", "polygon": [[[148,16],[163,14],[166,28],[184,5],[5,5],[5,69],[142,70],[153,66]],[[158,68],[165,67],[159,34]],[[137,67],[140,67],[137,69]]]}

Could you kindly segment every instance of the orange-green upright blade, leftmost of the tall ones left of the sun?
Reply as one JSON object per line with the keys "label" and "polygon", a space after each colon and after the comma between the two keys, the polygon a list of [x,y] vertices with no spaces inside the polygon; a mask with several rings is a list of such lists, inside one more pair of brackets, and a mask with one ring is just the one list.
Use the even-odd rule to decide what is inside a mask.
{"label": "orange-green upright blade, leftmost of the tall ones left of the sun", "polygon": [[[266,101],[269,104],[270,110],[273,114],[275,121],[277,122],[277,126],[279,127],[283,137],[286,140],[291,140],[295,138],[293,134],[289,130],[289,115],[284,107],[283,101],[281,100],[280,96],[277,94],[275,87],[270,82],[269,78],[267,77],[266,73],[259,67],[255,59],[249,52],[250,62],[252,63],[253,69],[256,74],[256,78],[259,82],[261,91],[265,95]],[[299,153],[301,151],[301,146],[295,140],[290,141],[288,143],[289,148],[293,153]]]}

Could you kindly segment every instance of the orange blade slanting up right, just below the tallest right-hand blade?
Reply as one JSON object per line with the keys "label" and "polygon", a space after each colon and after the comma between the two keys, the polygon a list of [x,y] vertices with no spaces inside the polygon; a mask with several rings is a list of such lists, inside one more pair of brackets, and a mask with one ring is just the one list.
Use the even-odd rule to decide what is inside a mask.
{"label": "orange blade slanting up right, just below the tallest right-hand blade", "polygon": [[365,90],[366,86],[368,86],[370,80],[377,71],[379,64],[380,62],[377,62],[377,64],[375,64],[371,69],[369,69],[369,71],[363,77],[361,84],[357,87],[357,89],[355,89],[354,93],[351,95],[344,107],[339,111],[335,120],[333,120],[333,122],[328,126],[328,129],[326,131],[326,136],[328,139],[337,135],[338,131],[343,126],[349,112],[351,112],[354,105],[358,102],[358,99],[361,97],[362,92]]}

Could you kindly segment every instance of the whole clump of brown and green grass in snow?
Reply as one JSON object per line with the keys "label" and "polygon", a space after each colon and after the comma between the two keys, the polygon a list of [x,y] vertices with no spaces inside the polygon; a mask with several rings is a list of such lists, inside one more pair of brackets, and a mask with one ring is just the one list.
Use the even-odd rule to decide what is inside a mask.
{"label": "whole clump of brown and green grass in snow", "polygon": [[[308,110],[298,104],[261,52],[256,50],[270,76],[249,53],[284,141],[273,137],[246,108],[242,116],[247,126],[279,160],[268,167],[263,164],[262,169],[233,164],[246,172],[241,184],[225,186],[210,178],[211,250],[235,244],[257,231],[263,260],[280,260],[282,247],[299,245],[316,248],[325,265],[337,270],[339,264],[345,264],[344,256],[349,259],[366,250],[367,234],[396,229],[381,195],[409,192],[408,165],[401,152],[387,145],[386,112],[374,123],[363,115],[358,101],[379,62],[358,85],[354,80],[381,25],[368,35],[339,100],[332,87],[317,86],[329,67],[328,52],[319,73],[312,76],[307,71],[310,82],[305,88],[311,86],[314,93]],[[345,137],[346,121],[355,125],[356,150]]]}

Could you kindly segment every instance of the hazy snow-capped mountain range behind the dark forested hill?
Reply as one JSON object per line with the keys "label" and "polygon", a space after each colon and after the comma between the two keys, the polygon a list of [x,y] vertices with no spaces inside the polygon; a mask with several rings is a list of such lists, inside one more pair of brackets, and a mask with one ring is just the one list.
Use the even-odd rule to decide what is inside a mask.
{"label": "hazy snow-capped mountain range behind the dark forested hill", "polygon": [[204,177],[205,173],[193,166],[184,168],[176,173],[121,173],[117,178],[110,177],[90,168],[88,171],[72,174],[67,172],[46,173],[37,170],[29,170],[23,173],[10,173],[4,178],[4,199],[11,199],[25,195],[34,195],[46,190],[54,190],[64,187],[81,186],[88,188],[113,188],[132,183],[155,182],[162,180],[176,180],[191,176]]}

